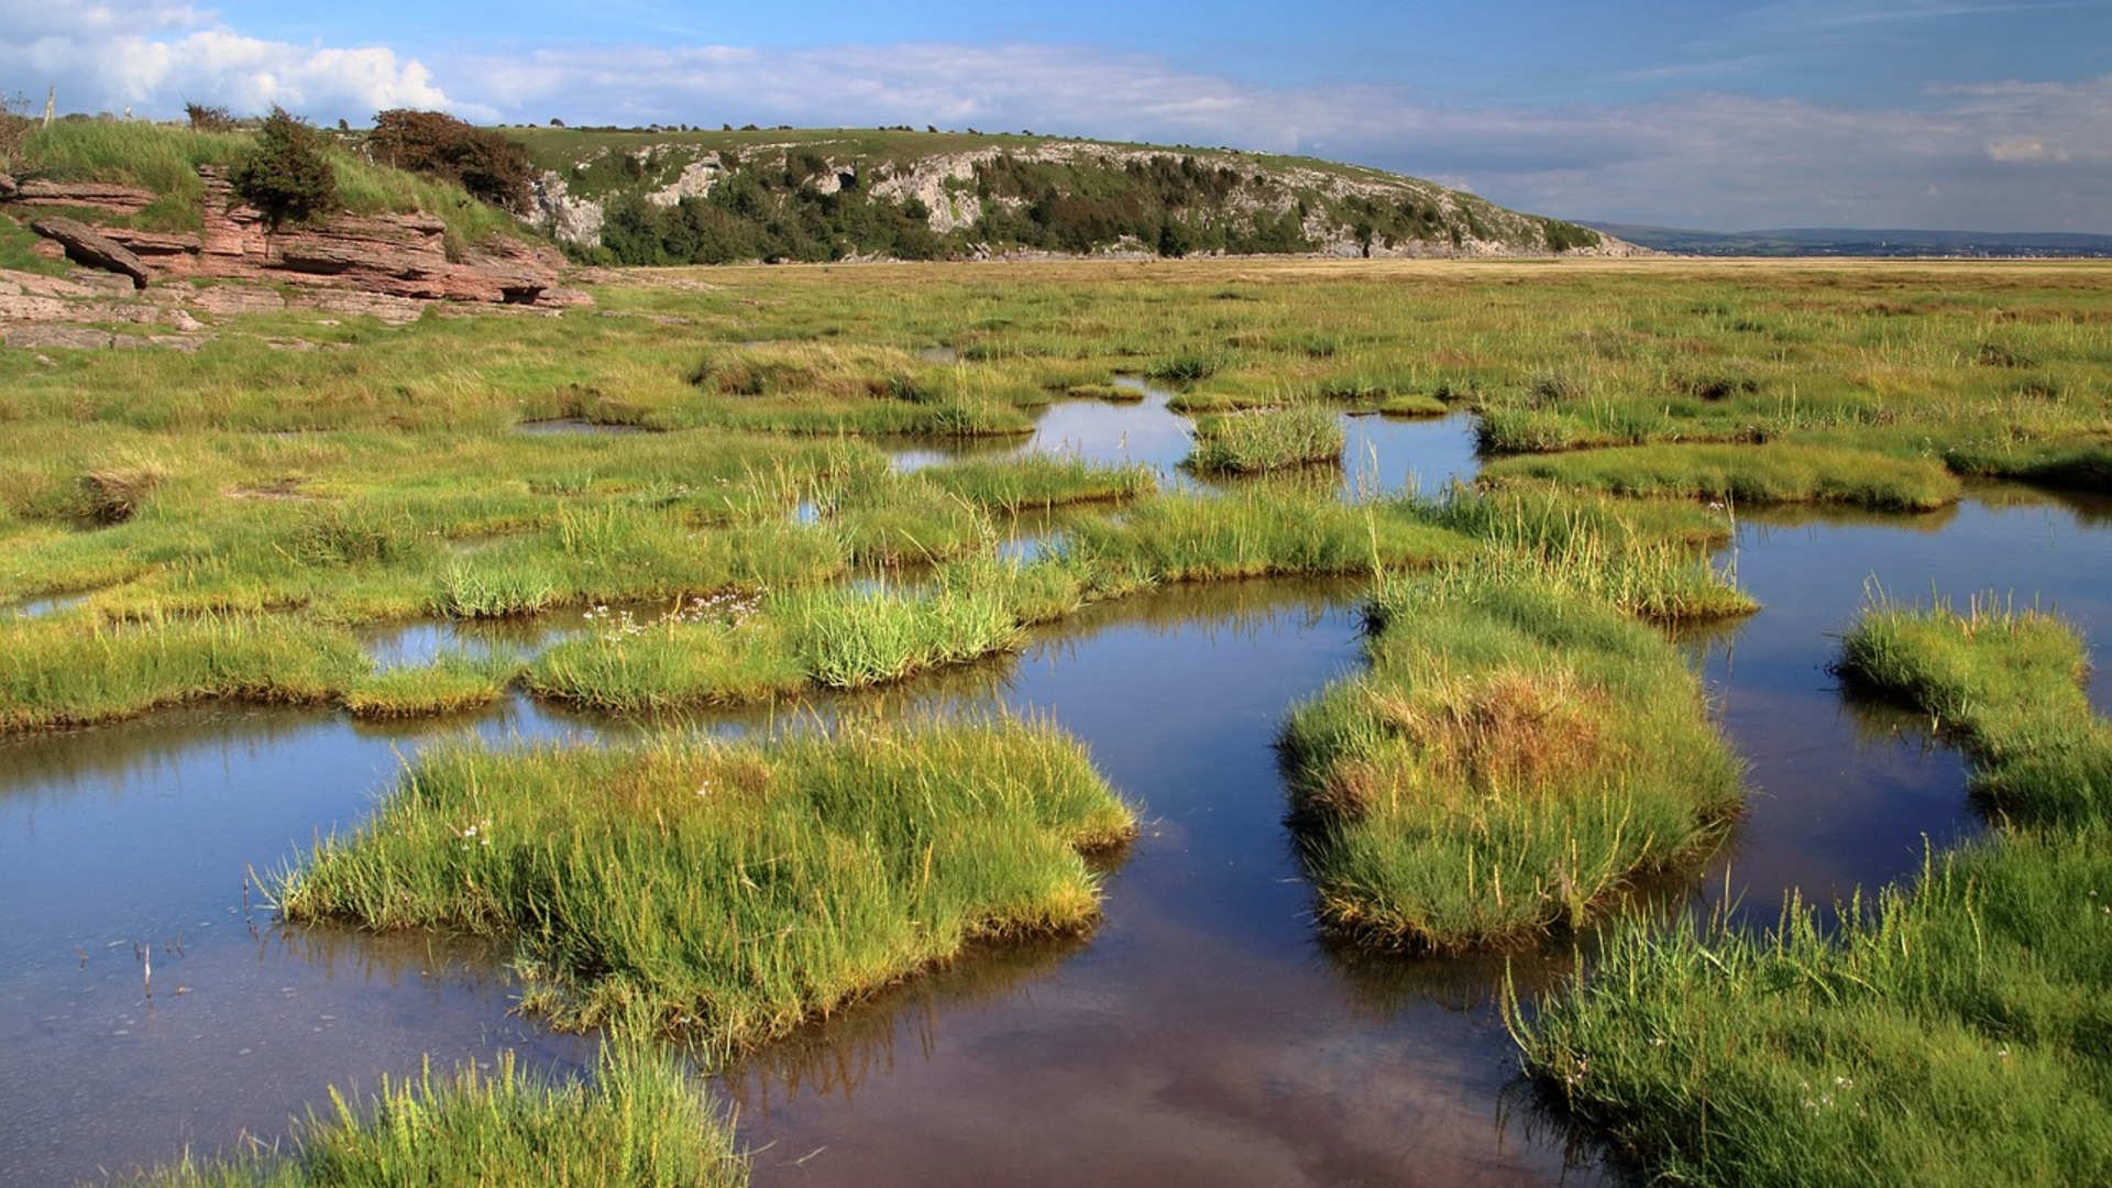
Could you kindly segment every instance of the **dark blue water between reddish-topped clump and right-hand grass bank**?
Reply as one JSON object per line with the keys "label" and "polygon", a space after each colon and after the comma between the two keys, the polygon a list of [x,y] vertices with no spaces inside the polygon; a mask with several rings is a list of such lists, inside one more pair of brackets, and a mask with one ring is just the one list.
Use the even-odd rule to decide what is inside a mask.
{"label": "dark blue water between reddish-topped clump and right-hand grass bank", "polygon": [[[1728,888],[1745,917],[1768,924],[1783,890],[1802,888],[1825,909],[1854,888],[1911,877],[1928,846],[1985,829],[1966,797],[1964,759],[1930,740],[1922,714],[1846,695],[1829,664],[1840,634],[1880,594],[1964,607],[1992,592],[2108,638],[2112,535],[2074,499],[2030,495],[1977,488],[1926,516],[1740,512],[1736,545],[1719,562],[1736,564],[1764,609],[1685,636],[1749,763],[1751,812],[1704,879],[1711,903]],[[2089,691],[2099,712],[2112,706],[2104,666]]]}

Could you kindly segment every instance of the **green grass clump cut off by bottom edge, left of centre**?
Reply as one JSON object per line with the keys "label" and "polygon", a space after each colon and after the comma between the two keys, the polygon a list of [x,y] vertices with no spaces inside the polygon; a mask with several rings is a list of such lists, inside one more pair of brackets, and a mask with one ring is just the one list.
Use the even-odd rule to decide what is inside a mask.
{"label": "green grass clump cut off by bottom edge, left of centre", "polygon": [[188,1156],[125,1180],[135,1188],[325,1188],[342,1184],[553,1184],[741,1188],[748,1161],[733,1120],[680,1063],[638,1040],[610,1040],[591,1080],[543,1080],[501,1053],[492,1068],[382,1076],[367,1099],[329,1091],[291,1152]]}

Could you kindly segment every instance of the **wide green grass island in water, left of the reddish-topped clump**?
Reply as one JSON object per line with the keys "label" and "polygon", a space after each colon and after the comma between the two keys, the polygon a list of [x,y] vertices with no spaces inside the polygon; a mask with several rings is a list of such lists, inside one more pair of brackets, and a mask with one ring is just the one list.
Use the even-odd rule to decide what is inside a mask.
{"label": "wide green grass island in water, left of the reddish-topped clump", "polygon": [[376,818],[285,875],[291,920],[515,947],[564,1027],[754,1044],[976,939],[1098,915],[1086,852],[1134,814],[1037,723],[777,742],[427,750]]}

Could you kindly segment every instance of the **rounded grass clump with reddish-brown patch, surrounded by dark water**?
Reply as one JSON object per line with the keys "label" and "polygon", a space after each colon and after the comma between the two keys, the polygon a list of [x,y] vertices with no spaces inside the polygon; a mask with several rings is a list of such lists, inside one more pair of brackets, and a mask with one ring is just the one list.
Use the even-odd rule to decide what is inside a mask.
{"label": "rounded grass clump with reddish-brown patch, surrounded by dark water", "polygon": [[1658,632],[1559,579],[1472,567],[1379,598],[1371,670],[1278,738],[1326,928],[1519,943],[1723,839],[1738,761]]}

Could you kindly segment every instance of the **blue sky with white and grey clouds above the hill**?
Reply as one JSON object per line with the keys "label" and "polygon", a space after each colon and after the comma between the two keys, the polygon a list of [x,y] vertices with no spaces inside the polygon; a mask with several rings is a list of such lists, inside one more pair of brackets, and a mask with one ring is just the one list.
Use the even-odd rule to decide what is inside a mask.
{"label": "blue sky with white and grey clouds above the hill", "polygon": [[1563,218],[2112,233],[2112,0],[0,0],[0,95],[1305,152]]}

